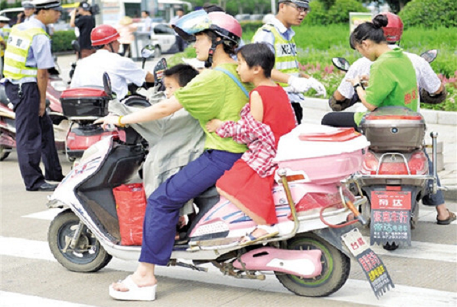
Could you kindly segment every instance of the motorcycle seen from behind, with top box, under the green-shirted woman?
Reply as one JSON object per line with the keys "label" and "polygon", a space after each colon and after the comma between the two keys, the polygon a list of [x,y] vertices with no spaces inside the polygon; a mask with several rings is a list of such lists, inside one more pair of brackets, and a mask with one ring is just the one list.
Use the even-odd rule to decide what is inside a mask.
{"label": "motorcycle seen from behind, with top box, under the green-shirted woman", "polygon": [[[421,56],[431,62],[436,54],[432,50]],[[343,58],[332,62],[342,71],[350,67]],[[420,113],[406,107],[380,107],[363,117],[359,129],[370,141],[370,147],[352,182],[359,195],[369,200],[360,210],[370,220],[370,245],[381,244],[387,250],[411,245],[419,201],[440,188],[436,184],[438,134],[430,134],[433,172],[429,174],[424,152],[426,125]]]}

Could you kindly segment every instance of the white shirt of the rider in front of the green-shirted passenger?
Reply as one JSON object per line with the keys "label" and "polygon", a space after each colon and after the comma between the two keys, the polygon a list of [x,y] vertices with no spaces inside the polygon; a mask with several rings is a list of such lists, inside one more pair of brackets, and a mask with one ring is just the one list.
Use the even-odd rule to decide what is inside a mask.
{"label": "white shirt of the rider in front of the green-shirted passenger", "polygon": [[[388,45],[390,49],[394,49],[398,47],[395,44]],[[435,71],[431,69],[431,66],[429,62],[426,62],[424,58],[421,58],[419,55],[414,54],[414,53],[408,53],[404,52],[411,60],[413,63],[413,67],[415,69],[416,73],[416,78],[417,78],[417,85],[428,91],[429,93],[434,93],[438,91],[441,85],[441,81],[436,76]],[[347,71],[345,78],[341,81],[340,85],[338,86],[338,91],[340,92],[341,95],[345,96],[345,98],[352,98],[354,96],[354,87],[352,87],[352,84],[350,82],[347,82],[347,79],[353,79],[356,76],[363,76],[363,75],[370,75],[370,67],[371,64],[370,60],[367,58],[363,57],[360,58],[359,60],[356,60],[354,64],[351,65],[350,69]],[[363,112],[366,110],[365,107],[361,104],[357,104],[359,106],[356,107],[357,111]],[[419,104],[417,104],[417,112],[420,111]]]}

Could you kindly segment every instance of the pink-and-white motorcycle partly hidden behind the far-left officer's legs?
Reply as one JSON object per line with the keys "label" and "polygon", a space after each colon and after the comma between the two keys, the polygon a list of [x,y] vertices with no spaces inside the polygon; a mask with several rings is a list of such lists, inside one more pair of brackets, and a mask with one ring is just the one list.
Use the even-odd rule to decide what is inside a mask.
{"label": "pink-and-white motorcycle partly hidden behind the far-left officer's legs", "polygon": [[[53,122],[55,147],[64,149],[64,139],[67,134],[68,121],[62,114],[60,95],[67,85],[60,78],[60,69],[57,58],[54,58],[55,67],[49,69],[49,81],[46,87],[46,112]],[[5,93],[5,87],[0,84],[0,161],[6,159],[16,148],[15,112]]]}

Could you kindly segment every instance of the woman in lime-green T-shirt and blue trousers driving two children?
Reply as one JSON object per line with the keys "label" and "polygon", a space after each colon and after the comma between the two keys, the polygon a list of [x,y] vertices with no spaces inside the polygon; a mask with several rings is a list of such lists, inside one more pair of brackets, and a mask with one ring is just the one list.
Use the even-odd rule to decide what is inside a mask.
{"label": "woman in lime-green T-shirt and blue trousers driving two children", "polygon": [[246,150],[244,145],[222,139],[205,128],[207,121],[214,118],[237,121],[241,108],[248,103],[245,92],[252,88],[241,83],[236,74],[236,62],[230,56],[241,38],[239,22],[223,12],[207,14],[199,10],[182,17],[175,24],[175,30],[184,39],[195,36],[198,60],[212,64],[215,69],[203,71],[186,87],[176,91],[174,97],[161,103],[126,116],[106,116],[97,122],[123,126],[153,121],[184,107],[205,130],[206,150],[148,198],[139,266],[124,281],[110,286],[114,299],[155,299],[155,265],[169,262],[179,209],[213,186]]}

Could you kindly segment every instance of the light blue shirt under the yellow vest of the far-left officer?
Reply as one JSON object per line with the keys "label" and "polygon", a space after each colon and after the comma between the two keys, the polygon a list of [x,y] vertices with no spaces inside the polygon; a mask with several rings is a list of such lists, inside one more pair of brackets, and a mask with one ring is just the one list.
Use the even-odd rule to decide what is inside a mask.
{"label": "light blue shirt under the yellow vest of the far-left officer", "polygon": [[[46,31],[46,26],[38,19],[31,18],[28,21],[17,25],[18,30],[28,30],[31,28],[42,28]],[[35,35],[32,40],[31,48],[28,51],[27,67],[37,67],[38,69],[49,69],[55,66],[51,53],[51,40],[44,34]],[[26,77],[19,80],[9,80],[13,84],[25,82],[37,82],[35,77]]]}

